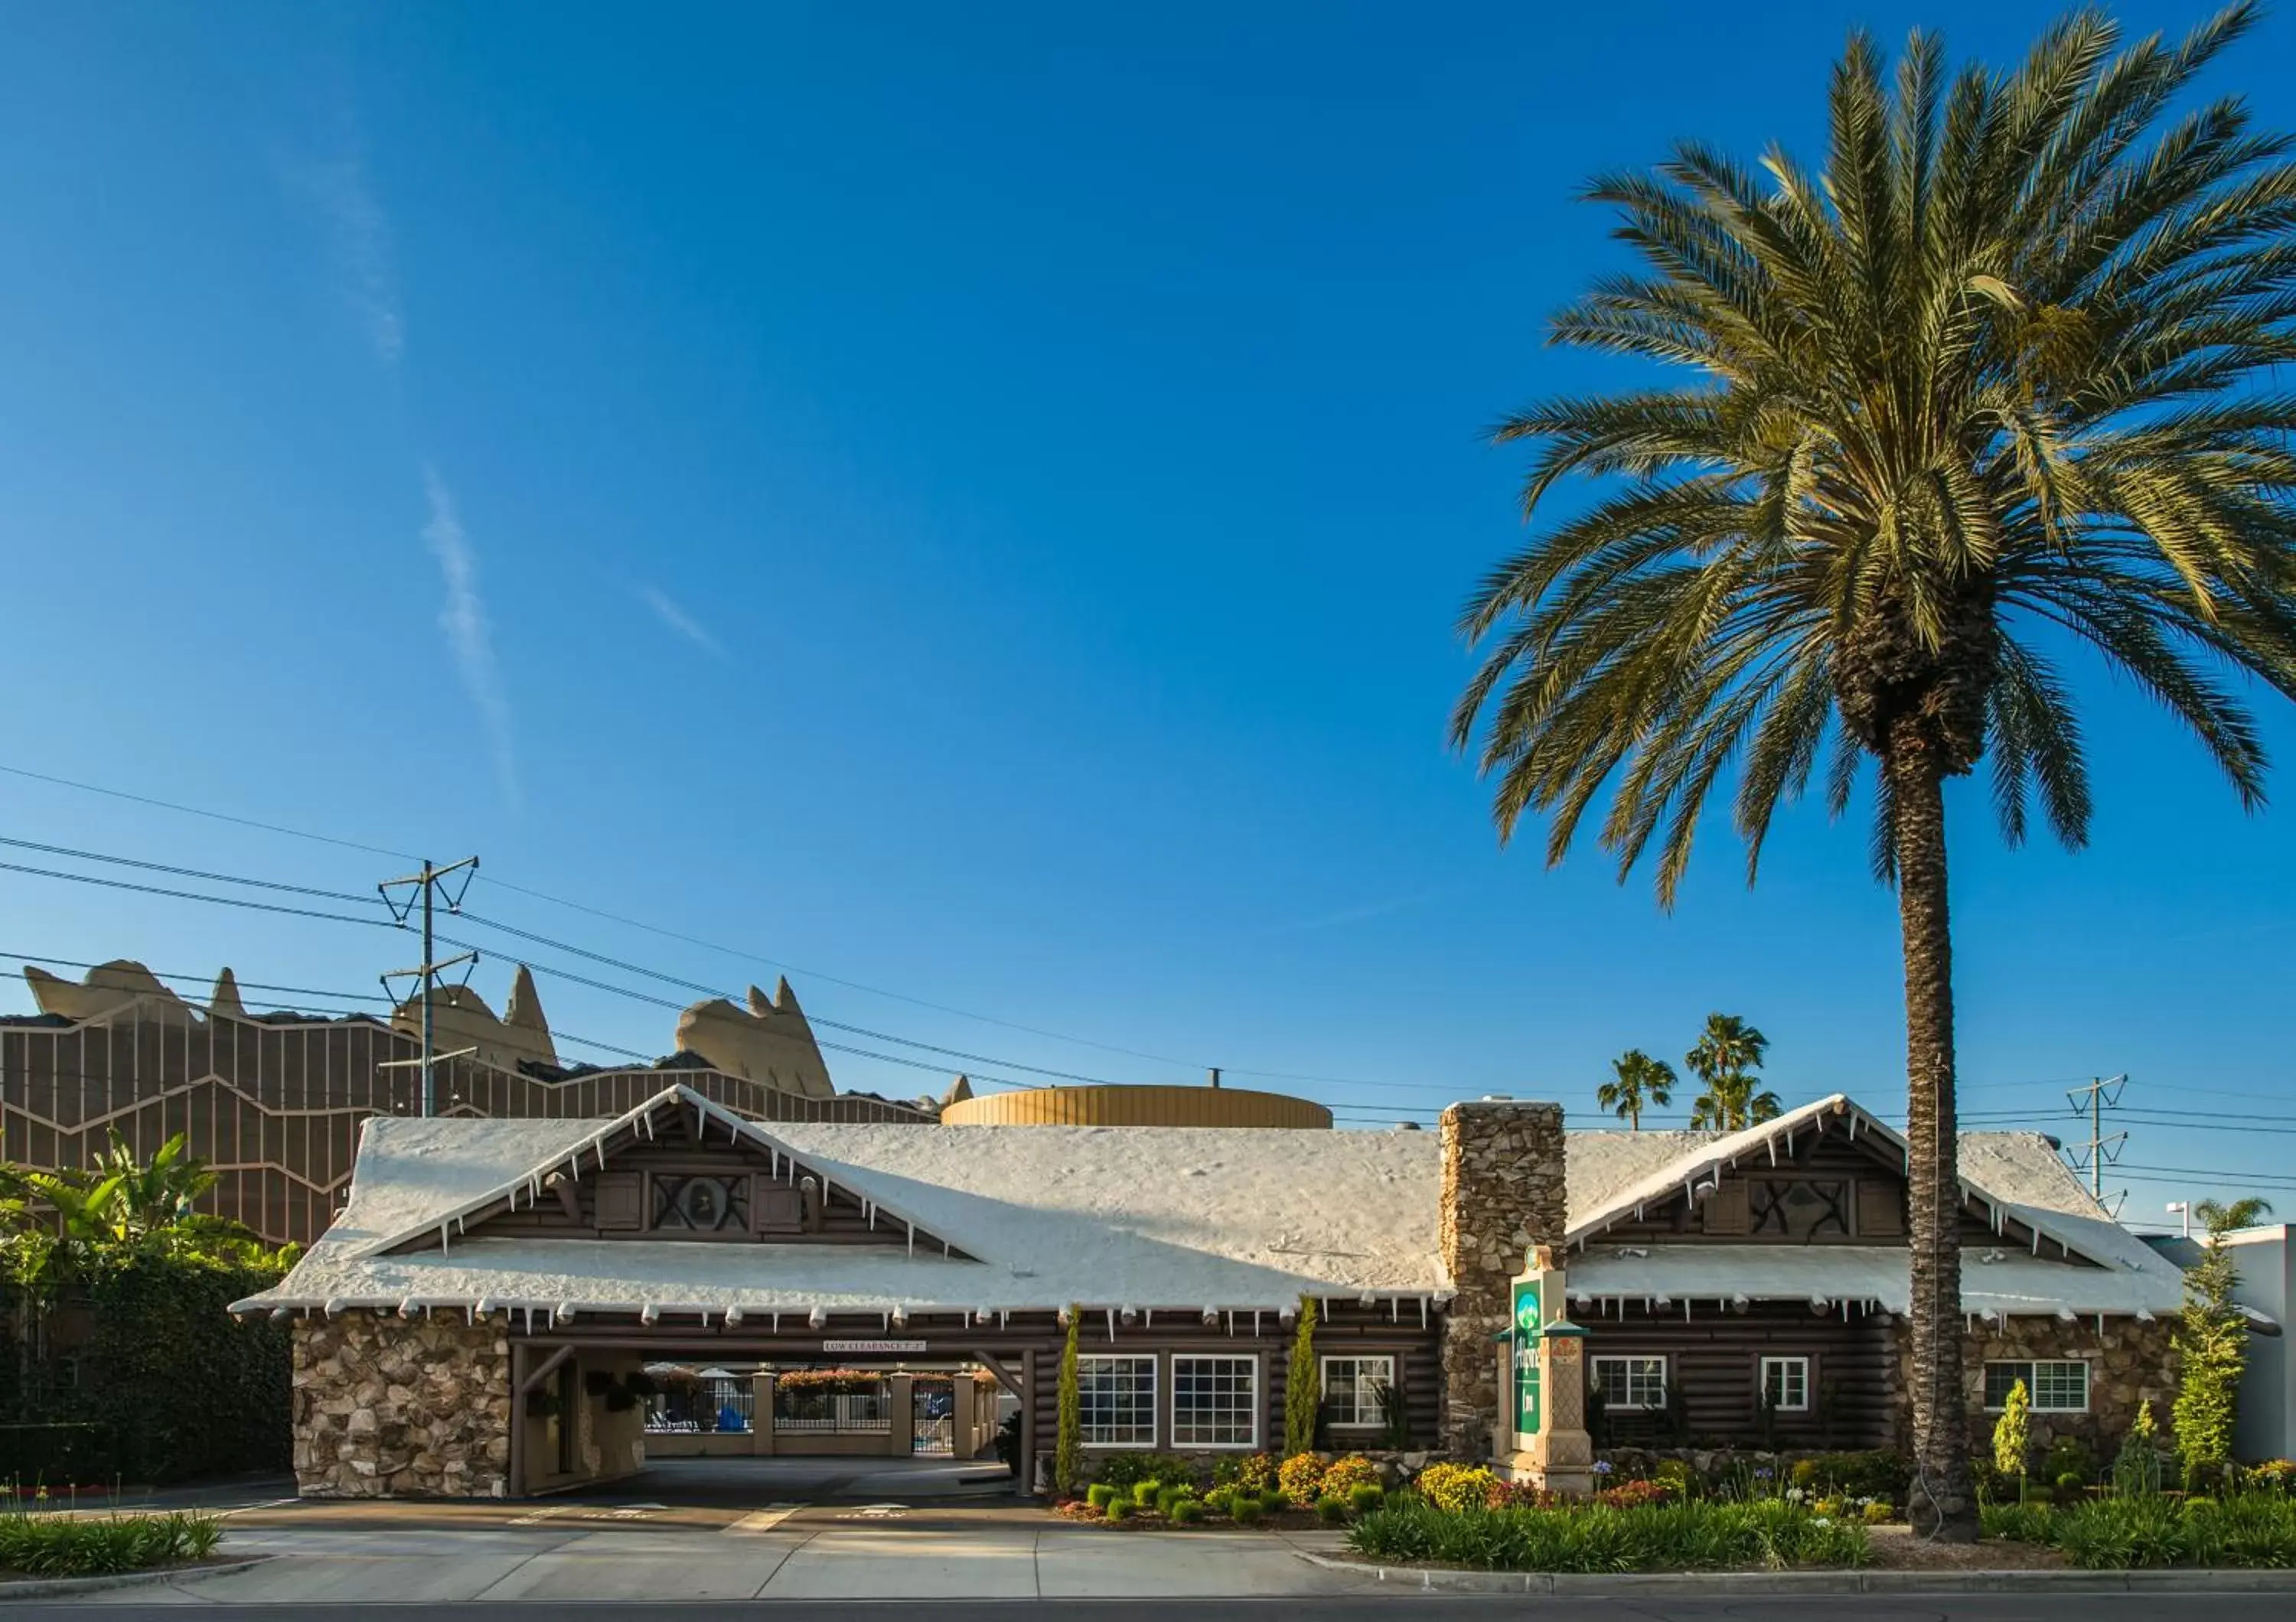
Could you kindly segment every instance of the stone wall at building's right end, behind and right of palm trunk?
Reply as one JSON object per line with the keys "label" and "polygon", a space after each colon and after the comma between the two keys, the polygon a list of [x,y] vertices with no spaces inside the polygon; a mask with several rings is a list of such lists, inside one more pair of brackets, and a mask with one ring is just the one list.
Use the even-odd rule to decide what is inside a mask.
{"label": "stone wall at building's right end, behind and right of palm trunk", "polygon": [[[2027,1360],[2085,1360],[2089,1365],[2089,1411],[2087,1413],[2034,1413],[2032,1445],[2034,1468],[2039,1455],[2060,1436],[2076,1436],[2087,1443],[2099,1464],[2108,1464],[2122,1445],[2122,1436],[2138,1418],[2138,1404],[2149,1402],[2154,1425],[2161,1427],[2163,1445],[2170,1441],[2170,1404],[2177,1399],[2177,1354],[2170,1344],[2174,1324],[2156,1319],[2140,1324],[2131,1317],[2108,1317],[2103,1328],[2094,1317],[2011,1317],[2004,1324],[1979,1319],[1977,1328],[1961,1338],[1961,1377],[1970,1404],[1970,1452],[1988,1457],[1993,1452],[1993,1425],[2000,1413],[1986,1411],[1986,1363]],[[1913,1344],[1906,1324],[1899,1324],[1899,1390],[1910,1388]],[[1901,1411],[1899,1443],[1910,1441],[1910,1411]]]}

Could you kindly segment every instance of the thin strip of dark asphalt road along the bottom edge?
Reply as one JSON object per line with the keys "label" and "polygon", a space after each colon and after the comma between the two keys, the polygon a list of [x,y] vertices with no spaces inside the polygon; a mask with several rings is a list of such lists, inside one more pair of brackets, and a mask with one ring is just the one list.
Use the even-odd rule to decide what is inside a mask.
{"label": "thin strip of dark asphalt road along the bottom edge", "polygon": [[[1444,1617],[1593,1617],[1593,1622],[1830,1622],[1860,1617],[1871,1622],[2287,1622],[2296,1615],[2289,1594],[1968,1594],[1968,1597],[1841,1597],[1841,1599],[1483,1599],[1465,1594],[1396,1592],[1368,1597],[1293,1597],[1293,1599],[923,1599],[923,1601],[751,1601],[751,1604],[620,1604],[556,1601],[556,1608],[579,1611],[583,1622],[652,1622],[677,1615],[680,1622],[707,1615],[767,1615],[771,1622],[1010,1622],[1015,1611],[1042,1608],[1063,1622],[1205,1622],[1205,1617],[1244,1617],[1247,1622],[1373,1622],[1435,1611]],[[331,1604],[328,1622],[404,1622],[409,1606]],[[422,1611],[434,1622],[503,1622],[501,1604],[439,1606]],[[278,1622],[282,1615],[308,1613],[305,1606],[202,1606],[214,1622]],[[87,1622],[85,1604],[21,1604],[7,1608],[9,1622]],[[168,1606],[135,1606],[115,1599],[106,1617],[172,1622],[184,1613]]]}

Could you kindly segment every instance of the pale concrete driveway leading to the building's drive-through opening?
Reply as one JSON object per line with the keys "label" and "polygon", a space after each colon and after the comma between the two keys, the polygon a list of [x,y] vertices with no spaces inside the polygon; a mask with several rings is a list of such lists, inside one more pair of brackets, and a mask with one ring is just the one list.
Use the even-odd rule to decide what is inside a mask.
{"label": "pale concrete driveway leading to the building's drive-through opening", "polygon": [[925,1503],[788,1505],[719,1528],[629,1503],[503,1505],[494,1526],[234,1523],[248,1572],[122,1588],[85,1604],[1137,1599],[1348,1594],[1267,1533],[1123,1533],[1035,1510]]}

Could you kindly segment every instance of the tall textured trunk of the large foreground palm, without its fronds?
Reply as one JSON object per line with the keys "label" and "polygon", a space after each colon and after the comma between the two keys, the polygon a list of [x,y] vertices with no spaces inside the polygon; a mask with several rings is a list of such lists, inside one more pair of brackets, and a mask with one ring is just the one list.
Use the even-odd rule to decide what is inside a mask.
{"label": "tall textured trunk of the large foreground palm, without its fronds", "polygon": [[[1896,741],[1896,739],[1892,739]],[[1977,1539],[1970,1411],[1961,1377],[1961,1170],[1954,1126],[1954,943],[1945,902],[1945,773],[1924,741],[1883,764],[1906,948],[1906,1145],[1910,1165],[1913,1530]]]}

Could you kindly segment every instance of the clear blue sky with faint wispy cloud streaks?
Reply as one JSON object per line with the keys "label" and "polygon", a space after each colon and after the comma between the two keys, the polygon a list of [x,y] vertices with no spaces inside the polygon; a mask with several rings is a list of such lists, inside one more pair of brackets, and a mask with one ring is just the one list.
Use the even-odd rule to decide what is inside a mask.
{"label": "clear blue sky with faint wispy cloud streaks", "polygon": [[[494,918],[774,973],[494,881],[572,897],[1008,1065],[1591,1120],[1614,1053],[1676,1058],[1733,1009],[1789,1101],[1894,1113],[1862,824],[1791,814],[1750,892],[1715,819],[1669,918],[1591,851],[1502,851],[1444,748],[1451,617],[1520,539],[1518,459],[1481,431],[1621,376],[1541,344],[1616,252],[1573,188],[1676,135],[1814,151],[1853,23],[2000,60],[2043,14],[1750,16],[18,9],[0,764],[475,849]],[[2218,83],[2296,126],[2289,60],[2296,14]],[[2188,1120],[2128,1161],[2229,1177],[2115,1179],[2142,1218],[2282,1163],[2243,1126],[2296,1124],[2289,821],[2085,691],[2085,853],[2007,853],[1954,801],[1965,1108],[2064,1129],[2064,1083],[2131,1071],[2131,1106]],[[2285,711],[2266,730],[2296,755]],[[21,775],[0,833],[319,888],[393,870]],[[356,991],[411,959],[14,872],[0,950]],[[542,991],[563,1032],[668,1046],[661,1009]]]}

